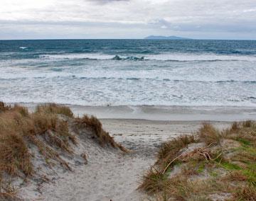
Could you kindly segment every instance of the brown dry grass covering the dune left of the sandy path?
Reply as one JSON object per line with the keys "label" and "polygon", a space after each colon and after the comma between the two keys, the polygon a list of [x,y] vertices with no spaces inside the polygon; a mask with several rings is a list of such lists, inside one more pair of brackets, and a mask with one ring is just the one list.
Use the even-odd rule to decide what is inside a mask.
{"label": "brown dry grass covering the dune left of the sandy path", "polygon": [[[60,155],[73,155],[82,135],[92,134],[101,147],[127,151],[114,142],[96,117],[75,117],[70,108],[38,105],[33,113],[20,105],[0,102],[0,200],[17,199],[12,178],[27,180],[36,175],[33,160],[40,155],[49,168],[58,164],[68,171],[70,165]],[[86,159],[86,155],[82,155]]]}

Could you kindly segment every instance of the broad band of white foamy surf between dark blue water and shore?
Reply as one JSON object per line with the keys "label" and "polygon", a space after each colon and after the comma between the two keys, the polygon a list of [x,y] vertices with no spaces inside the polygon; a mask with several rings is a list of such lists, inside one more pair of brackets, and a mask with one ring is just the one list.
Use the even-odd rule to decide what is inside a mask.
{"label": "broad band of white foamy surf between dark blue water and shore", "polygon": [[[185,55],[146,55],[145,59],[152,59],[150,62],[116,61],[108,54],[45,54],[41,58],[8,59],[0,63],[0,101],[256,106],[255,61],[159,62],[182,60]],[[218,56],[196,55],[187,55],[186,59],[203,61]],[[75,61],[88,57],[100,61]],[[159,58],[154,60],[155,57]],[[74,60],[62,61],[67,58]]]}

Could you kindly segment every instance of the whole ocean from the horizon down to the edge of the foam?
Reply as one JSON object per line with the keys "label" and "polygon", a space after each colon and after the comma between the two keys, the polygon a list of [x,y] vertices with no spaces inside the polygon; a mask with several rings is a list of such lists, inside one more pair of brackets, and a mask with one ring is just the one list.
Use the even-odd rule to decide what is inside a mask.
{"label": "whole ocean from the horizon down to the edge of the foam", "polygon": [[1,40],[0,100],[256,106],[256,41]]}

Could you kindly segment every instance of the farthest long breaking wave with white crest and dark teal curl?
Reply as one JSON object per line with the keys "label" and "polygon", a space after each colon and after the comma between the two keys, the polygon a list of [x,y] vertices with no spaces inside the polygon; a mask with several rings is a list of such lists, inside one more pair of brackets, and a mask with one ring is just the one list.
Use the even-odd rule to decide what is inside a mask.
{"label": "farthest long breaking wave with white crest and dark teal curl", "polygon": [[134,55],[113,55],[100,53],[85,54],[41,54],[41,59],[91,59],[91,60],[116,60],[116,61],[166,61],[166,62],[236,62],[249,61],[256,62],[256,56],[244,55],[224,55],[224,54],[188,54],[188,53],[169,53],[169,54],[134,54]]}

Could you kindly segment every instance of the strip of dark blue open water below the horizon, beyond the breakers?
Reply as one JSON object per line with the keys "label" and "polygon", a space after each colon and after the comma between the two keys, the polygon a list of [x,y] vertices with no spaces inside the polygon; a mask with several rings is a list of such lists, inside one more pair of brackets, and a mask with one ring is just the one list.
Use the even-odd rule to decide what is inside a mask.
{"label": "strip of dark blue open water below the horizon, beyond the breakers", "polygon": [[[19,49],[26,47],[26,53]],[[35,58],[41,54],[103,53],[255,55],[253,40],[1,40],[0,52],[15,52],[11,58]],[[25,53],[25,54],[24,54]],[[3,59],[4,57],[1,57]]]}

